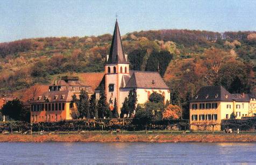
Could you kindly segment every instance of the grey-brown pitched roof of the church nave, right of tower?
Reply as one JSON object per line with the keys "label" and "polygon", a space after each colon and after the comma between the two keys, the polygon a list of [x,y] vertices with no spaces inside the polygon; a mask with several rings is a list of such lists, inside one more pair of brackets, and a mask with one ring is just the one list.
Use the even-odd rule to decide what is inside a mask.
{"label": "grey-brown pitched roof of the church nave, right of tower", "polygon": [[169,89],[158,72],[134,71],[125,88]]}

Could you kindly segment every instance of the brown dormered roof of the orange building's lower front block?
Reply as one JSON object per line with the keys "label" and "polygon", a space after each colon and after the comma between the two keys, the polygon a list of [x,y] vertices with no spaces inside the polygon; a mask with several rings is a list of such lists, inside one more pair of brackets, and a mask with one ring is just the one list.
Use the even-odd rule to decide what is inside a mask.
{"label": "brown dormered roof of the orange building's lower front block", "polygon": [[[50,91],[45,92],[42,95],[39,95],[38,97],[35,97],[34,100],[32,100],[32,103],[42,103],[42,102],[70,102],[72,101],[72,96],[74,93],[71,91]],[[63,96],[63,97],[62,97]],[[40,99],[39,99],[40,98]]]}

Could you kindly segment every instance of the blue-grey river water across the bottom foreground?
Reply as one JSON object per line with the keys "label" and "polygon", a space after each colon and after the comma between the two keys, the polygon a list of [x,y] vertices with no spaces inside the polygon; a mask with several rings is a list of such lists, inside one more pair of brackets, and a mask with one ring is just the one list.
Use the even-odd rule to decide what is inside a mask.
{"label": "blue-grey river water across the bottom foreground", "polygon": [[256,143],[2,142],[1,163],[256,163]]}

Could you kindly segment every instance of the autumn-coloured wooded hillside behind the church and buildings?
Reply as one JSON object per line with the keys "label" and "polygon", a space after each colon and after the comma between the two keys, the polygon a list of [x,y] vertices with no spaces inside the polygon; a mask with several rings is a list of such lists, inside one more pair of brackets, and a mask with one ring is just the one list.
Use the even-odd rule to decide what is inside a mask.
{"label": "autumn-coloured wooded hillside behind the church and buildings", "polygon": [[[37,38],[0,43],[0,94],[47,85],[60,74],[103,72],[112,35]],[[122,36],[131,69],[157,71],[180,106],[205,85],[253,92],[256,32],[179,29]]]}

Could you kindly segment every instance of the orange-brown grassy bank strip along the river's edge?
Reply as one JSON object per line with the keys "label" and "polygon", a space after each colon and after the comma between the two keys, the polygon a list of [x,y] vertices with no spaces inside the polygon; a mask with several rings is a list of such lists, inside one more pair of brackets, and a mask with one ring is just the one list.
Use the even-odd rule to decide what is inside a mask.
{"label": "orange-brown grassy bank strip along the river's edge", "polygon": [[243,134],[51,134],[0,135],[0,142],[256,142],[254,133]]}

